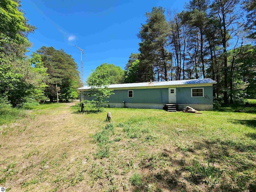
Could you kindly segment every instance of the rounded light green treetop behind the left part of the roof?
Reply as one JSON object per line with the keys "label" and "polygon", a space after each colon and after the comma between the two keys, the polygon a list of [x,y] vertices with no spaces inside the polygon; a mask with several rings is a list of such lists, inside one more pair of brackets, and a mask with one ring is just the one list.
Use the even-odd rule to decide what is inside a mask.
{"label": "rounded light green treetop behind the left part of the roof", "polygon": [[114,64],[101,64],[88,78],[95,76],[96,73],[106,73],[106,78],[109,79],[109,84],[121,83],[124,78],[124,70],[122,70],[120,66],[115,66]]}

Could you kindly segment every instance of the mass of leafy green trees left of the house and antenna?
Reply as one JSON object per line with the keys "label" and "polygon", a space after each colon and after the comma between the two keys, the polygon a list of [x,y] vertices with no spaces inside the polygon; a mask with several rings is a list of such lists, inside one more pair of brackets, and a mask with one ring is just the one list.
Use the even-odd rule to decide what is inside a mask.
{"label": "mass of leafy green trees left of the house and antenna", "polygon": [[42,46],[26,56],[31,46],[28,24],[19,0],[0,1],[0,113],[8,107],[36,105],[50,98],[77,98],[80,85],[77,64],[64,50]]}

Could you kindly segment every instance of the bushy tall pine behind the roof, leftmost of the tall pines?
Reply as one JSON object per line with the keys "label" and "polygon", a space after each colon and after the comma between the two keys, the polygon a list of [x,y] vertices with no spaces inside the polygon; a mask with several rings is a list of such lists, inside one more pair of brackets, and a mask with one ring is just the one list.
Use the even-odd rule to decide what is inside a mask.
{"label": "bushy tall pine behind the roof, leftmost of the tall pines", "polygon": [[[142,24],[138,34],[142,41],[139,43],[139,78],[140,81],[156,80],[155,74],[158,73],[157,76],[161,76],[161,80],[167,81],[172,59],[172,54],[167,48],[170,26],[162,7],[153,7],[151,12],[146,12],[146,17],[146,24]],[[156,70],[159,68],[161,70]]]}

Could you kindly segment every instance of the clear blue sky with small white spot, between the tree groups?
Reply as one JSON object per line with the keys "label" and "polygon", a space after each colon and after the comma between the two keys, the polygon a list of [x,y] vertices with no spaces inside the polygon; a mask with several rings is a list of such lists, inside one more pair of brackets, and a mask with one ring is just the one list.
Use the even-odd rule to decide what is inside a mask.
{"label": "clear blue sky with small white spot, between the tree groups", "polygon": [[[138,52],[137,38],[145,13],[153,6],[182,11],[185,0],[22,0],[29,23],[36,26],[28,39],[33,46],[53,46],[74,58],[80,70],[84,49],[84,81],[102,63],[124,69],[130,54]],[[29,53],[30,54],[30,53]]]}

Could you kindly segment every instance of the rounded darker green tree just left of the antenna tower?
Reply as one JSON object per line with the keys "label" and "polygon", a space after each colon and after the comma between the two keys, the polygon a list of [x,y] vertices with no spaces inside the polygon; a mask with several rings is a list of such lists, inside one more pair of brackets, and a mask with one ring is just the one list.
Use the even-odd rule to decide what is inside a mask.
{"label": "rounded darker green tree just left of the antenna tower", "polygon": [[56,50],[46,46],[37,50],[37,54],[41,56],[42,62],[47,68],[45,95],[50,98],[50,101],[52,102],[57,97],[56,84],[60,100],[77,98],[76,88],[79,87],[80,78],[77,64],[72,56],[64,52],[63,49]]}

